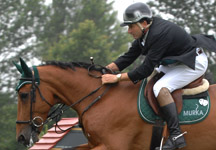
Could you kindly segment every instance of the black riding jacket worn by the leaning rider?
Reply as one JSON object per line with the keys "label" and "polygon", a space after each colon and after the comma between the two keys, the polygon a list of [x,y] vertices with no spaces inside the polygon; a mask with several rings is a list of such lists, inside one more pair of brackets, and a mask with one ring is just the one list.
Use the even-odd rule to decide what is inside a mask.
{"label": "black riding jacket worn by the leaning rider", "polygon": [[154,67],[160,64],[180,62],[192,69],[195,68],[197,40],[178,25],[154,17],[145,42],[143,39],[145,38],[134,40],[129,51],[114,61],[122,71],[138,56],[146,56],[140,66],[128,72],[134,83],[151,75]]}

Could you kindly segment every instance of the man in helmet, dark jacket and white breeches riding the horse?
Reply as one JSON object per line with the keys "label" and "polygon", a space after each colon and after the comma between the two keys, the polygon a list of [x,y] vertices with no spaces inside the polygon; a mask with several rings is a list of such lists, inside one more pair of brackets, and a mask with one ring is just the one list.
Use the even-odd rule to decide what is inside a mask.
{"label": "man in helmet, dark jacket and white breeches riding the horse", "polygon": [[153,87],[170,133],[163,150],[185,147],[177,108],[170,93],[202,76],[207,70],[207,56],[184,29],[167,20],[153,17],[151,9],[145,3],[137,2],[128,6],[123,19],[121,26],[128,26],[128,33],[134,41],[129,50],[107,65],[107,68],[122,71],[138,56],[145,55],[145,59],[136,69],[127,73],[103,75],[102,84],[122,81],[136,84],[151,75],[156,67],[158,72],[165,73]]}

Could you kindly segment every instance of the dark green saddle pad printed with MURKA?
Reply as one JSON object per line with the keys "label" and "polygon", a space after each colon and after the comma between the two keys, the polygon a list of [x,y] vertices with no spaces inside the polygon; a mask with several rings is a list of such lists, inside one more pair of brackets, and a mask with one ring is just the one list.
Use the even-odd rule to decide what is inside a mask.
{"label": "dark green saddle pad printed with MURKA", "polygon": [[[144,79],[141,83],[139,95],[137,99],[138,111],[141,118],[148,123],[155,123],[156,120],[162,119],[157,116],[152,110],[148,101],[144,97],[144,89],[147,80]],[[183,108],[179,114],[180,124],[193,124],[204,120],[210,111],[210,97],[209,94],[204,97],[183,99]]]}

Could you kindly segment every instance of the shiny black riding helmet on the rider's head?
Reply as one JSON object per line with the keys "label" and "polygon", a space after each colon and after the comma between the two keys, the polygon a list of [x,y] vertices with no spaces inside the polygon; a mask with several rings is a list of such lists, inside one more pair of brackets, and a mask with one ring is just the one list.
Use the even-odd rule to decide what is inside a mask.
{"label": "shiny black riding helmet on the rider's head", "polygon": [[148,5],[137,2],[128,6],[123,14],[124,22],[120,24],[121,27],[129,24],[134,24],[143,18],[152,19],[152,11]]}

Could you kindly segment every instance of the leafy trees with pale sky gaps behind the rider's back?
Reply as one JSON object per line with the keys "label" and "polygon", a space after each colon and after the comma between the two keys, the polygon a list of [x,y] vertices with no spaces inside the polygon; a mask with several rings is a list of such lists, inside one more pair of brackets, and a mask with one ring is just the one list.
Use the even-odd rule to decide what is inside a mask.
{"label": "leafy trees with pale sky gaps behind the rider's back", "polygon": [[[155,15],[169,15],[169,20],[185,28],[190,34],[212,34],[216,24],[216,1],[212,0],[156,0],[148,3]],[[216,33],[215,33],[216,34]],[[208,72],[216,73],[215,53],[206,51],[209,56]],[[216,76],[214,78],[216,82]],[[214,82],[213,81],[213,82]]]}

